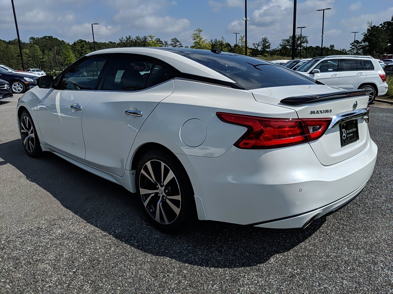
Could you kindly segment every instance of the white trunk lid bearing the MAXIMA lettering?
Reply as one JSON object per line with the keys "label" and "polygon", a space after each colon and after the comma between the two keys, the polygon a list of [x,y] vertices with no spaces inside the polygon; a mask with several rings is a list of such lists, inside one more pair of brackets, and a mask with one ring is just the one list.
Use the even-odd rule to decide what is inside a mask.
{"label": "white trunk lid bearing the MAXIMA lettering", "polygon": [[[326,85],[297,85],[250,90],[257,102],[293,109],[299,118],[331,118],[335,114],[353,111],[354,104],[357,104],[355,110],[367,107],[369,97],[364,94],[299,105],[288,105],[280,102],[286,97],[339,93],[341,91],[344,90]],[[340,125],[336,125],[328,129],[320,139],[309,143],[321,164],[332,165],[341,162],[365,149],[369,140],[367,123],[364,118],[358,118],[357,121],[359,140],[356,142],[341,146]]]}

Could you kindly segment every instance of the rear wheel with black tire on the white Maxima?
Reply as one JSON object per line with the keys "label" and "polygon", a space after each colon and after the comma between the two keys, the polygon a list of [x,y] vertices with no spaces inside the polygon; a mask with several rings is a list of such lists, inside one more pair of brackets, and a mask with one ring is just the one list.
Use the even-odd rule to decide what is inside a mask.
{"label": "rear wheel with black tire on the white Maxima", "polygon": [[136,171],[138,196],[147,219],[158,229],[180,232],[196,219],[193,189],[172,154],[149,151]]}

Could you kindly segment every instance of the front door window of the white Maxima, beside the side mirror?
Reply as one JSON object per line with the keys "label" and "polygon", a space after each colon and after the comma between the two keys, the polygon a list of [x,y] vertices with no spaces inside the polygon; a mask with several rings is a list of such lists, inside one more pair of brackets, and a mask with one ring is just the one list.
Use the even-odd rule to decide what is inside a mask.
{"label": "front door window of the white Maxima, beside the side mirror", "polygon": [[108,57],[94,57],[73,66],[62,76],[59,89],[95,90]]}

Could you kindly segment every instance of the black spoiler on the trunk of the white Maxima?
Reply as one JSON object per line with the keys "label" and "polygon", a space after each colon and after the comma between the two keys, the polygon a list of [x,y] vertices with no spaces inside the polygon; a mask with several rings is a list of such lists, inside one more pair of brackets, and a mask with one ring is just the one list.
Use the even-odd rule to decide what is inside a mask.
{"label": "black spoiler on the trunk of the white Maxima", "polygon": [[333,93],[326,93],[326,94],[294,96],[294,97],[284,98],[280,102],[289,105],[298,105],[298,104],[340,99],[344,97],[353,97],[353,96],[362,96],[362,95],[368,96],[371,92],[373,92],[373,90],[361,89],[361,90],[341,91],[341,92],[333,92]]}

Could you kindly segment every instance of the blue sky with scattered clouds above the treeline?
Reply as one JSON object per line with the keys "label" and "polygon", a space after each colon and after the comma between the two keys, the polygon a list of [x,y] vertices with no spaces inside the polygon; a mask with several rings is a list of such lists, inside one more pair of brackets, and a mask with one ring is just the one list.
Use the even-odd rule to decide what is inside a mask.
{"label": "blue sky with scattered clouds above the treeline", "polygon": [[[118,41],[125,35],[153,34],[162,40],[174,36],[191,45],[194,29],[209,40],[224,36],[235,43],[233,32],[244,33],[244,0],[15,0],[20,37],[52,35],[73,42],[83,38]],[[367,21],[380,24],[393,15],[391,0],[298,0],[297,26],[306,26],[309,45],[320,45],[322,13],[324,44],[348,48],[352,31],[362,32]],[[0,0],[0,39],[16,37],[11,0]],[[248,43],[268,36],[273,47],[292,34],[293,0],[248,0]],[[298,32],[299,33],[299,32]]]}

